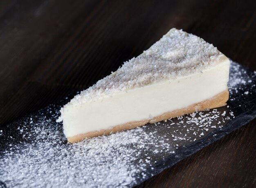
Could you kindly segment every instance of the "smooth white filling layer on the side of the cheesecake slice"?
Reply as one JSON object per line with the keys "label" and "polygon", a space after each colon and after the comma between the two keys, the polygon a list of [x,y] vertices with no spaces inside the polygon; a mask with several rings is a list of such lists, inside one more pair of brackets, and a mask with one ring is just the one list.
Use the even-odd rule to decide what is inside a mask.
{"label": "smooth white filling layer on the side of the cheesecake slice", "polygon": [[151,119],[212,98],[227,90],[229,59],[201,73],[120,92],[99,101],[61,109],[66,138]]}

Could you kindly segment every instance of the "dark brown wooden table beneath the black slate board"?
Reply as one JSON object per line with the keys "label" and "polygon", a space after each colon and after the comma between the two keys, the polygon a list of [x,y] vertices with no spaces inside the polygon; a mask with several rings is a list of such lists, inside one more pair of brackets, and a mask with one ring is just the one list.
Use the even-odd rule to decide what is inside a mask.
{"label": "dark brown wooden table beneath the black slate board", "polygon": [[[74,95],[182,28],[256,70],[242,0],[0,1],[0,126]],[[256,187],[256,120],[138,187]]]}

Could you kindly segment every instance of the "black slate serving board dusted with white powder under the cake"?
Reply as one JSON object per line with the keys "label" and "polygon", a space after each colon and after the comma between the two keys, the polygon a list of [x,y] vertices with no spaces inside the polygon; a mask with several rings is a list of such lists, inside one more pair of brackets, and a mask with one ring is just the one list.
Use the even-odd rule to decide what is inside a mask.
{"label": "black slate serving board dusted with white powder under the cake", "polygon": [[[89,154],[81,152],[81,144],[67,144],[61,132],[61,124],[55,122],[59,115],[58,110],[60,107],[72,98],[72,96],[67,97],[58,104],[50,105],[31,114],[31,116],[1,128],[0,187],[68,187],[70,184],[73,187],[132,187],[140,184],[256,117],[255,71],[253,72],[237,63],[231,62],[229,91],[230,98],[225,107],[173,118],[158,124],[148,124],[130,131],[88,139],[83,142],[84,149],[88,150],[89,153],[93,151],[95,160],[99,160],[99,162],[91,162]],[[53,130],[58,132],[57,136],[52,136],[51,132]],[[128,133],[133,137],[130,138],[131,141],[129,143],[126,143],[129,139],[122,139],[122,137],[127,137]],[[29,136],[29,134],[31,135]],[[94,147],[93,142],[95,142],[95,147],[100,145],[96,142],[109,142],[111,144],[112,142],[110,141],[113,139],[115,142],[119,139],[120,143],[112,144],[110,146],[111,149],[108,149],[108,146],[102,146],[101,149],[105,153],[100,153],[95,148],[88,148],[89,146]],[[38,144],[45,142],[52,145],[44,147]],[[122,150],[115,148],[116,146],[121,147]],[[63,165],[64,169],[62,170],[59,167],[52,167],[51,169],[54,170],[51,171],[51,178],[47,174],[49,167],[42,167],[43,172],[40,172],[40,175],[44,178],[38,179],[36,173],[40,171],[40,165],[49,164],[49,166],[54,166],[54,164],[58,164],[60,160],[63,160],[59,157],[60,153],[49,152],[49,150],[58,151],[58,149],[60,149],[60,152],[63,152],[63,149],[67,149],[68,152],[65,154],[66,158],[64,157],[64,160],[66,159],[70,164]],[[45,159],[45,161],[38,162],[38,158],[31,154],[34,151],[39,151],[40,155],[41,153],[46,153],[45,157],[39,158],[42,161]],[[106,155],[106,152],[109,151],[112,152],[109,154],[110,158]],[[72,152],[80,153],[79,156],[74,155],[72,157]],[[52,156],[49,157],[49,155]],[[80,155],[83,155],[83,158]],[[97,155],[98,158],[96,157]],[[18,161],[17,164],[16,161]],[[29,161],[32,161],[29,165],[37,169],[36,171],[31,169],[31,173],[29,173],[30,171],[26,167]],[[89,166],[87,161],[94,166],[88,167],[87,172],[85,172],[86,166]],[[79,164],[73,164],[72,162]],[[122,162],[124,166],[121,165]],[[84,167],[82,168],[83,164]],[[69,166],[74,166],[74,169],[68,169]],[[101,166],[101,168],[97,166]],[[106,169],[104,169],[105,167]],[[81,172],[77,173],[77,171]],[[22,172],[24,175],[17,175]],[[66,176],[61,172],[74,173]],[[108,176],[108,179],[102,180],[101,176]],[[61,177],[65,178],[62,179]],[[67,177],[70,177],[70,180],[66,180]],[[31,179],[34,179],[33,182],[31,182]],[[80,181],[81,179],[83,181]]]}

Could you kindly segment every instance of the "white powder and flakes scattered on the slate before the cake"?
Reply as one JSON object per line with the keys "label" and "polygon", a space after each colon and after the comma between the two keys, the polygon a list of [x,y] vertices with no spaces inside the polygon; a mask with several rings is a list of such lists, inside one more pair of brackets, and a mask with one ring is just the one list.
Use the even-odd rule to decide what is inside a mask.
{"label": "white powder and flakes scattered on the slate before the cake", "polygon": [[[0,159],[0,177],[10,187],[130,186],[136,183],[136,175],[145,177],[145,167],[154,164],[148,152],[175,154],[182,143],[193,142],[214,129],[211,122],[232,118],[220,114],[213,109],[180,116],[174,124],[173,119],[168,120],[161,126],[175,130],[162,136],[147,131],[147,127],[159,126],[156,123],[76,144],[67,144],[62,126],[41,114],[29,118],[27,124],[34,122],[32,130],[27,131],[27,124],[18,127],[20,134],[33,137],[33,142],[13,145],[5,152]],[[181,134],[183,129],[186,134]]]}

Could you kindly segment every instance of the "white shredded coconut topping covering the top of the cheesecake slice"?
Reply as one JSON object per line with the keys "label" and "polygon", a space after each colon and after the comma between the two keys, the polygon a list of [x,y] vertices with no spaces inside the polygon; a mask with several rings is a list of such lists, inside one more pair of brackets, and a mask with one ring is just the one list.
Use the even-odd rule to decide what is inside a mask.
{"label": "white shredded coconut topping covering the top of the cheesecake slice", "polygon": [[126,61],[116,72],[76,95],[70,104],[86,103],[120,91],[201,72],[216,65],[222,56],[202,38],[172,28],[141,55]]}

